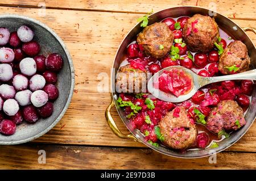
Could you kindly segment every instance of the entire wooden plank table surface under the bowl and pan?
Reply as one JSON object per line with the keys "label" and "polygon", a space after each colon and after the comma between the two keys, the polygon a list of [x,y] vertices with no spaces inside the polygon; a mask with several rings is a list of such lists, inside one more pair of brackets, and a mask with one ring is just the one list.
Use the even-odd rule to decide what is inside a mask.
{"label": "entire wooden plank table surface under the bowl and pan", "polygon": [[[28,144],[0,146],[0,169],[256,169],[256,123],[210,164],[208,158],[172,158],[118,138],[105,121],[110,94],[98,93],[97,76],[110,75],[115,52],[137,18],[151,9],[209,7],[210,2],[241,27],[256,27],[255,1],[1,0],[0,14],[38,19],[64,40],[75,65],[76,85],[71,105],[55,128]],[[248,35],[255,44],[256,36]],[[127,132],[115,110],[113,115]],[[46,164],[38,163],[38,150],[46,151]]]}

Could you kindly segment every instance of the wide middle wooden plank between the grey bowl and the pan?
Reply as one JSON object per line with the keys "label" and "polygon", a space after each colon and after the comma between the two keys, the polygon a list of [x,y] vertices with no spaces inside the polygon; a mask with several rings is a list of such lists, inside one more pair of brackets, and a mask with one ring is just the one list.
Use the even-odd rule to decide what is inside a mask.
{"label": "wide middle wooden plank between the grey bowl and the pan", "polygon": [[[140,14],[93,11],[46,10],[38,16],[36,9],[0,7],[1,12],[27,15],[46,23],[65,41],[76,70],[72,103],[64,118],[50,132],[35,142],[107,146],[143,146],[123,140],[106,124],[104,111],[110,103],[109,93],[99,93],[98,73],[110,75],[115,52],[123,37],[134,26]],[[254,26],[252,20],[235,20],[240,26]],[[79,25],[78,25],[79,24]],[[256,36],[250,33],[256,43]],[[117,112],[114,119],[122,132],[127,132]],[[35,124],[36,126],[36,124]],[[256,125],[231,150],[255,151]]]}

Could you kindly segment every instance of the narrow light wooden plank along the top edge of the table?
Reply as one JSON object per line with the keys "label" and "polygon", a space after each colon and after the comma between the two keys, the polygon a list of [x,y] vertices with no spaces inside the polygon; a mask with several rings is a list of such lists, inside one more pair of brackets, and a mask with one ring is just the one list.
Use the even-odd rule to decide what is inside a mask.
{"label": "narrow light wooden plank along the top edge of the table", "polygon": [[98,10],[98,11],[122,11],[122,12],[155,12],[173,6],[201,6],[208,9],[215,9],[229,18],[252,19],[255,18],[255,1],[218,1],[218,0],[176,0],[176,1],[152,1],[152,0],[1,0],[1,5],[11,6],[32,6],[41,7],[42,2],[47,8],[77,9],[77,10]]}

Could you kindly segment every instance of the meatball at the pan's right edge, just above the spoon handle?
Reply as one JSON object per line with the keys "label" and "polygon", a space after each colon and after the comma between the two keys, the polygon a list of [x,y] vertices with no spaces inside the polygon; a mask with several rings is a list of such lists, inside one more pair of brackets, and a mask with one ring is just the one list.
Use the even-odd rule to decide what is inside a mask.
{"label": "meatball at the pan's right edge, just above the spoon handle", "polygon": [[[220,56],[218,70],[222,74],[241,73],[247,71],[250,65],[250,57],[246,45],[242,41],[233,41],[225,48]],[[230,69],[235,67],[236,69]]]}

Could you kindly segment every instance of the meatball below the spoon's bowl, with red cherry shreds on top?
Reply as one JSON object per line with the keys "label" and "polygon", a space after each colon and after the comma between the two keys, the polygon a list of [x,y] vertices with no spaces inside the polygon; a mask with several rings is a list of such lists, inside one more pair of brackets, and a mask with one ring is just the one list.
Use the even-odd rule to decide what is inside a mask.
{"label": "meatball below the spoon's bowl, with red cherry shreds on top", "polygon": [[196,125],[189,119],[184,107],[176,107],[168,112],[160,120],[159,128],[164,136],[163,143],[170,148],[184,150],[195,144]]}

